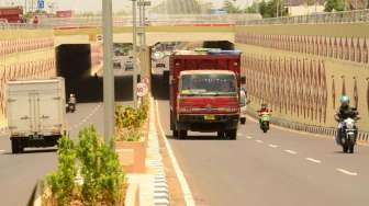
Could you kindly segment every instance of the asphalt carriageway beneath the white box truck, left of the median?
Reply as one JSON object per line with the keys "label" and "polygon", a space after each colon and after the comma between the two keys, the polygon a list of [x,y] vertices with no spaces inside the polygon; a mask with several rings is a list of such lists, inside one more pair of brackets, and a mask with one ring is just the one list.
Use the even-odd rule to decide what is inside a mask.
{"label": "asphalt carriageway beneath the white box truck, left of the median", "polygon": [[[74,114],[67,114],[69,134],[91,124],[101,134],[103,110],[100,103],[78,104]],[[8,137],[0,138],[0,205],[24,206],[37,180],[56,169],[56,148],[26,149],[12,154]]]}

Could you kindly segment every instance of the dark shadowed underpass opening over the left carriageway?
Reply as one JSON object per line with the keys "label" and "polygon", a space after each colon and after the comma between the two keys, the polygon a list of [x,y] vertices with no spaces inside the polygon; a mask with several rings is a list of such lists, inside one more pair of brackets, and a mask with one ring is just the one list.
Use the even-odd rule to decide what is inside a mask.
{"label": "dark shadowed underpass opening over the left carriageway", "polygon": [[[91,76],[90,44],[64,44],[56,48],[57,76],[65,78],[66,96],[76,94],[78,103],[102,102],[103,78]],[[132,77],[114,77],[115,101],[131,101]]]}

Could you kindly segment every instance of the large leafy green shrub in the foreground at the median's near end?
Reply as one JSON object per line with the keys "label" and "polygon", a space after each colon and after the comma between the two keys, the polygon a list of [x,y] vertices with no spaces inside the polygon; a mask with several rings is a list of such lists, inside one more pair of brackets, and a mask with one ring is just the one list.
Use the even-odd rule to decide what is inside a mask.
{"label": "large leafy green shrub in the foreground at the median's near end", "polygon": [[[125,182],[118,154],[92,126],[78,136],[76,147],[68,137],[59,141],[58,170],[46,178],[52,195],[45,205],[123,205]],[[78,169],[81,183],[76,182]]]}

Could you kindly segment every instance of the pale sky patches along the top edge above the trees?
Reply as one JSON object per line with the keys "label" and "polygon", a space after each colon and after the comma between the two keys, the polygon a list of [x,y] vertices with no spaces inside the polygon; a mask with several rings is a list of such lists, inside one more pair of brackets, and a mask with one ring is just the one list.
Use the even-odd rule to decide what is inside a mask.
{"label": "pale sky patches along the top edge above the trees", "polygon": [[[24,4],[27,1],[29,4],[34,2],[36,4],[37,0],[0,0],[0,5],[9,4],[14,2],[15,4]],[[69,10],[72,9],[77,12],[83,11],[100,11],[101,10],[101,1],[102,0],[44,0],[46,4],[49,2],[55,2],[57,5],[57,10]],[[131,0],[112,0],[113,9],[115,11],[120,10],[130,10],[132,1]],[[163,0],[150,0],[153,4],[159,3]],[[215,8],[221,8],[223,5],[224,0],[202,0],[212,2]],[[248,2],[253,0],[235,0],[235,3],[242,5],[244,8]]]}

